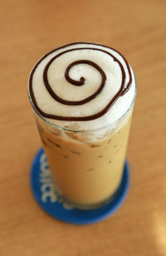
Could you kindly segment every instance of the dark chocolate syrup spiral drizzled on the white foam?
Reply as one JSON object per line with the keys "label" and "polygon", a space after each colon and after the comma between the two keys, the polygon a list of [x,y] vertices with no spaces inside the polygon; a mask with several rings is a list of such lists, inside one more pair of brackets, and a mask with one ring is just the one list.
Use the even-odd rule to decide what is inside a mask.
{"label": "dark chocolate syrup spiral drizzled on the white foam", "polygon": [[[64,47],[56,48],[55,50],[53,50],[51,52],[48,52],[44,57],[42,57],[40,59],[39,62],[37,62],[37,65],[33,67],[30,78],[29,78],[29,91],[30,91],[30,96],[32,97],[33,106],[41,114],[41,116],[44,116],[44,117],[50,118],[50,119],[61,120],[61,121],[91,121],[91,120],[95,120],[95,119],[99,118],[100,116],[105,115],[105,113],[110,110],[110,107],[113,106],[115,101],[117,101],[120,96],[124,96],[125,93],[129,90],[129,87],[131,86],[131,82],[132,82],[131,71],[130,71],[130,68],[129,68],[129,63],[125,60],[125,57],[122,57],[120,55],[124,59],[125,64],[127,66],[127,70],[129,72],[129,82],[127,83],[126,86],[125,86],[126,76],[125,76],[124,66],[121,64],[120,60],[118,58],[116,58],[115,56],[113,56],[110,52],[107,52],[107,51],[105,51],[103,49],[100,49],[100,48],[97,48],[97,47],[71,48],[69,50],[60,52],[55,57],[52,57],[51,60],[46,64],[46,66],[44,68],[44,71],[43,71],[44,85],[46,86],[46,90],[50,93],[51,97],[53,99],[55,99],[55,101],[58,101],[61,104],[70,105],[70,106],[83,105],[83,104],[95,99],[95,97],[98,96],[100,94],[100,92],[105,87],[106,75],[105,75],[105,72],[102,70],[102,68],[100,66],[98,66],[95,62],[91,62],[89,60],[79,60],[79,61],[76,61],[76,62],[72,62],[69,66],[66,67],[66,71],[65,71],[65,74],[64,74],[64,76],[66,77],[66,81],[68,81],[73,86],[84,86],[85,77],[81,76],[80,81],[76,81],[76,80],[71,79],[71,77],[69,76],[69,72],[70,72],[70,70],[73,66],[80,65],[80,64],[87,64],[87,65],[93,66],[97,71],[100,72],[100,76],[101,76],[102,80],[101,80],[101,83],[100,83],[100,87],[97,89],[97,91],[95,91],[95,93],[93,93],[91,96],[88,96],[88,97],[86,97],[85,99],[83,99],[81,101],[66,101],[66,100],[62,99],[60,96],[57,96],[56,93],[51,89],[51,86],[50,86],[50,84],[48,82],[48,79],[47,79],[47,71],[49,69],[49,66],[51,66],[51,63],[54,60],[56,60],[56,58],[60,57],[61,55],[66,54],[67,52],[74,52],[76,50],[94,50],[94,51],[99,51],[99,52],[105,52],[107,55],[112,57],[113,60],[115,62],[117,62],[118,65],[120,66],[120,70],[121,70],[121,73],[122,73],[122,81],[121,81],[120,90],[115,94],[115,96],[110,100],[110,102],[105,106],[105,108],[103,110],[97,112],[95,115],[91,115],[91,116],[57,116],[57,115],[53,115],[53,114],[49,114],[49,113],[45,113],[45,112],[41,111],[41,109],[37,105],[37,101],[36,101],[36,98],[35,98],[33,90],[32,90],[32,78],[33,78],[34,72],[37,69],[37,66],[41,63],[41,61],[43,59],[45,59],[52,52],[56,52],[57,50],[60,50],[60,49],[65,48],[65,47],[75,46],[76,44],[87,44],[87,45],[92,44],[92,45],[96,45],[96,46],[105,47],[103,45],[94,44],[94,43],[76,42],[76,43],[66,45]],[[106,48],[109,48],[109,47],[106,47]],[[112,48],[110,48],[110,49],[112,49]],[[114,49],[112,49],[112,50],[114,50]],[[117,51],[115,51],[115,52],[117,52]],[[120,52],[118,52],[118,53],[120,54]]]}

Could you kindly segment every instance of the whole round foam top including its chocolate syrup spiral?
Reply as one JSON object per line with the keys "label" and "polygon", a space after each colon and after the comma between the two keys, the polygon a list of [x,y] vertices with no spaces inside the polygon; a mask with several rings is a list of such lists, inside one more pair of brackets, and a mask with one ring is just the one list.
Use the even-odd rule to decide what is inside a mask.
{"label": "whole round foam top including its chocolate syrup spiral", "polygon": [[29,78],[33,107],[46,121],[76,130],[110,126],[134,101],[134,72],[110,47],[78,42],[41,57]]}

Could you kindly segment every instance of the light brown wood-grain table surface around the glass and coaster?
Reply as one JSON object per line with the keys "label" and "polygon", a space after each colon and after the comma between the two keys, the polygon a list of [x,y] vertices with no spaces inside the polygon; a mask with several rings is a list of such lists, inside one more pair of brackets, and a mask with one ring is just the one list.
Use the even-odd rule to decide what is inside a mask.
{"label": "light brown wood-grain table surface around the glass and coaster", "polygon": [[[1,0],[0,255],[166,255],[166,1]],[[37,59],[69,42],[100,42],[134,68],[125,204],[97,224],[52,219],[32,197],[41,141],[27,99]]]}

